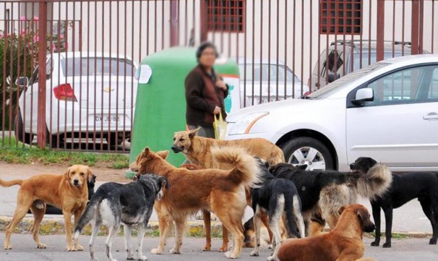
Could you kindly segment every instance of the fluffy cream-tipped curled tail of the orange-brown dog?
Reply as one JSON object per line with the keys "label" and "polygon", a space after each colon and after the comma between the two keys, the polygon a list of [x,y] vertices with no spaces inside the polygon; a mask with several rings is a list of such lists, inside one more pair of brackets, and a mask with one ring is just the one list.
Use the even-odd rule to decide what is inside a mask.
{"label": "fluffy cream-tipped curled tail of the orange-brown dog", "polygon": [[256,187],[262,184],[261,171],[257,161],[241,147],[212,147],[211,153],[215,168],[230,169],[228,177],[236,184]]}

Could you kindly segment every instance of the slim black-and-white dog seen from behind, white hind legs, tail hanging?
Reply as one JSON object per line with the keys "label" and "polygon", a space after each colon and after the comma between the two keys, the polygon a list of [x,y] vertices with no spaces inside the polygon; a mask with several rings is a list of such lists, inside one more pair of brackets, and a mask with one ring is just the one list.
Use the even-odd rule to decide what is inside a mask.
{"label": "slim black-and-white dog seen from behind, white hind legs, tail hanging", "polygon": [[255,247],[250,256],[259,255],[261,212],[269,217],[269,227],[273,233],[272,247],[274,252],[269,261],[277,259],[282,244],[280,218],[287,231],[287,237],[304,237],[304,220],[301,215],[301,200],[292,181],[274,177],[267,166],[258,160],[264,179],[260,187],[252,189],[252,210],[254,211]]}

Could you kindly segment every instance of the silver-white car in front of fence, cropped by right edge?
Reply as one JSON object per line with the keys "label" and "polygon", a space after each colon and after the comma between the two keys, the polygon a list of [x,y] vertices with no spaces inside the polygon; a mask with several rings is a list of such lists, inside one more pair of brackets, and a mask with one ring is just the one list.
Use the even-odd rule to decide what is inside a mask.
{"label": "silver-white car in front of fence, cropped by right edge", "polygon": [[349,170],[372,157],[394,171],[438,170],[438,55],[385,60],[303,99],[241,109],[227,139],[266,138],[286,161]]}

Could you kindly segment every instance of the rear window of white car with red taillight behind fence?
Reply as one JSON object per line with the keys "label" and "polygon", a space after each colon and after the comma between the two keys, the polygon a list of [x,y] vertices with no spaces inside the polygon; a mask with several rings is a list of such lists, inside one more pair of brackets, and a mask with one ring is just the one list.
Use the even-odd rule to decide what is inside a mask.
{"label": "rear window of white car with red taillight behind fence", "polygon": [[82,57],[61,60],[64,76],[133,75],[132,62],[125,59]]}

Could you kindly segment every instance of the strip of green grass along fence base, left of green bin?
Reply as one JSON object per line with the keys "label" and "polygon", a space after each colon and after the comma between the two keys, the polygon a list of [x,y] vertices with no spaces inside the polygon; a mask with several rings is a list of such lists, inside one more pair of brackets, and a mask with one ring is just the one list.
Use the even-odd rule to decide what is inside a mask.
{"label": "strip of green grass along fence base, left of green bin", "polygon": [[36,146],[23,145],[23,143],[17,142],[15,138],[9,139],[8,137],[4,139],[0,137],[0,148],[0,162],[5,163],[41,163],[45,165],[86,164],[116,169],[127,168],[129,165],[129,159],[125,154],[43,150]]}

